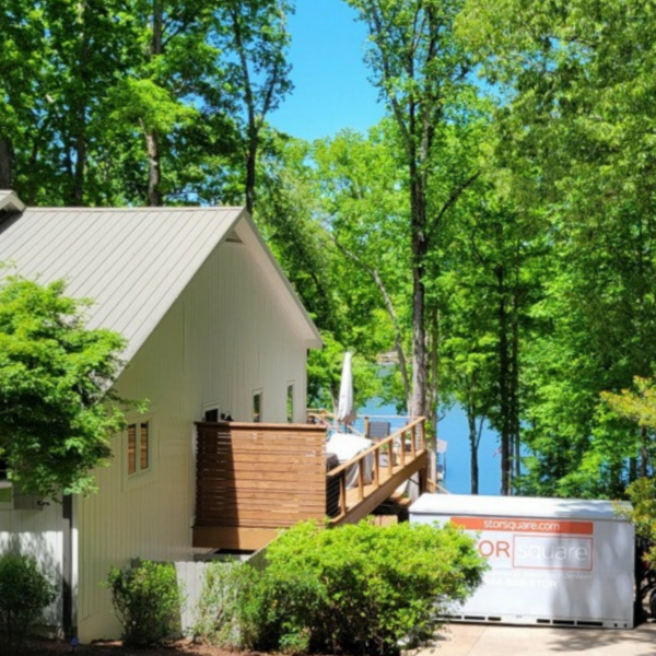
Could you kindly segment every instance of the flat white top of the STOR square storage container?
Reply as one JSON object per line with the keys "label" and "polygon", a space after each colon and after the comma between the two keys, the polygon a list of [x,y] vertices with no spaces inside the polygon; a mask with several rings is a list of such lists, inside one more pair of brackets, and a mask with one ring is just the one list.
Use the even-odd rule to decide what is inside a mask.
{"label": "flat white top of the STOR square storage container", "polygon": [[609,519],[626,522],[626,503],[589,499],[541,496],[483,496],[476,494],[422,494],[411,506],[411,515],[475,517],[549,517]]}

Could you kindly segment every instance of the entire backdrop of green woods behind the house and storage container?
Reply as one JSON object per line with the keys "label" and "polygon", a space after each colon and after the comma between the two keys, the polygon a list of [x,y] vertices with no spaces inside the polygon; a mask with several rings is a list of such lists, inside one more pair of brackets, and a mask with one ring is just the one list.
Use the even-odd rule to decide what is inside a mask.
{"label": "entire backdrop of green woods behind the house and storage container", "polygon": [[656,433],[621,396],[656,365],[653,2],[344,1],[385,116],[304,142],[269,121],[293,2],[9,0],[0,188],[245,202],[328,344],[312,402],[351,349],[361,398],[462,406],[473,489],[488,422],[503,492],[624,494]]}

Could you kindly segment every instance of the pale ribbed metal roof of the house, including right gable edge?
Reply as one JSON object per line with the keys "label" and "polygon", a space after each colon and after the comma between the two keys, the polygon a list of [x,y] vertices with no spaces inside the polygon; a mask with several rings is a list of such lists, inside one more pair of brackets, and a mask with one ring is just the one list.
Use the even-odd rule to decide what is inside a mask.
{"label": "pale ribbed metal roof of the house, including right gable edge", "polygon": [[[68,295],[94,302],[89,327],[120,332],[128,340],[122,356],[130,360],[237,225],[241,233],[257,232],[243,208],[27,208],[0,218],[0,262],[42,282],[67,280]],[[251,250],[261,266],[273,256],[257,242]],[[278,272],[282,279],[271,283],[284,290],[282,301],[295,312],[301,335],[308,345],[320,344]]]}

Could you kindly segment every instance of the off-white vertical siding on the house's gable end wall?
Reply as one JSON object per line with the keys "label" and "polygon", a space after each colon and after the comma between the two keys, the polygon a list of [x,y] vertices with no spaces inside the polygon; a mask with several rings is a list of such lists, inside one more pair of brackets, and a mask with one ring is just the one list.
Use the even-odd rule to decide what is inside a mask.
{"label": "off-white vertical siding on the house's gable end wall", "polygon": [[80,500],[78,621],[80,637],[120,632],[108,590],[110,565],[132,558],[192,558],[194,421],[218,401],[235,420],[251,419],[251,394],[263,390],[263,420],[286,421],[286,385],[294,382],[294,420],[304,421],[303,339],[280,309],[246,246],[221,245],[147,340],[117,383],[119,394],[149,399],[152,471],[127,479],[125,436],[98,471],[99,493]]}

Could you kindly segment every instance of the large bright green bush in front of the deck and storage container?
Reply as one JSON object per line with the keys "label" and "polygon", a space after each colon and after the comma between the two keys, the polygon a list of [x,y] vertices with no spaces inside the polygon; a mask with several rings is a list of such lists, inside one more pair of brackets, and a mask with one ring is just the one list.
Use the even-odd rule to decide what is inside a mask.
{"label": "large bright green bush in front of the deck and storage container", "polygon": [[[431,635],[485,569],[473,541],[450,526],[368,522],[332,530],[301,523],[270,544],[267,561],[261,574],[210,569],[215,605],[203,611],[204,635],[251,649],[394,654],[400,640]],[[207,618],[220,620],[214,631]]]}

